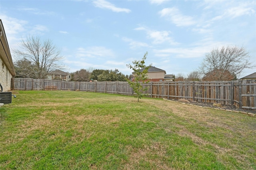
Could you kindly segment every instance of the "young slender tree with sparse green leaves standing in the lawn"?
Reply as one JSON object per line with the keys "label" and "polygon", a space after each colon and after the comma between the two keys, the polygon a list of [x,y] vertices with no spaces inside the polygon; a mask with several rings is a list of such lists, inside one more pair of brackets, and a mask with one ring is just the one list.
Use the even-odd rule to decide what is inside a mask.
{"label": "young slender tree with sparse green leaves standing in the lawn", "polygon": [[143,87],[144,83],[148,83],[149,80],[148,79],[148,68],[151,66],[151,64],[149,66],[145,65],[145,60],[146,57],[148,55],[148,52],[146,52],[144,54],[144,57],[142,58],[142,60],[134,60],[132,61],[132,64],[127,64],[126,66],[130,69],[133,70],[133,81],[130,81],[129,79],[126,79],[126,81],[128,81],[129,85],[132,87],[133,91],[134,91],[134,97],[138,98],[138,102],[139,99],[141,99],[142,97],[144,97],[146,94],[143,94],[143,91],[147,91],[148,87]]}

